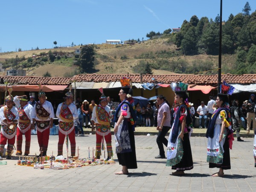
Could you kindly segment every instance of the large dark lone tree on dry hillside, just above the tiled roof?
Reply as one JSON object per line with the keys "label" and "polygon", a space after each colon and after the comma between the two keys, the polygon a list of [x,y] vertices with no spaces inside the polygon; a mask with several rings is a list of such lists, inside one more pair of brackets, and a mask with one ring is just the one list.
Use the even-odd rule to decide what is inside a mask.
{"label": "large dark lone tree on dry hillside, just above the tiled roof", "polygon": [[80,70],[86,72],[93,68],[94,65],[94,46],[93,45],[84,45],[81,48],[81,53],[79,55],[79,64]]}

